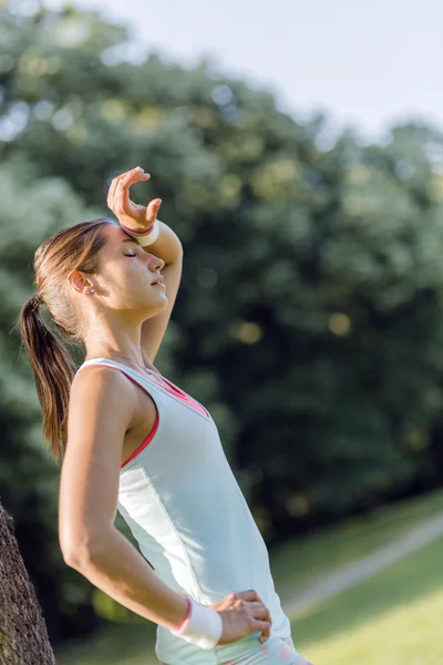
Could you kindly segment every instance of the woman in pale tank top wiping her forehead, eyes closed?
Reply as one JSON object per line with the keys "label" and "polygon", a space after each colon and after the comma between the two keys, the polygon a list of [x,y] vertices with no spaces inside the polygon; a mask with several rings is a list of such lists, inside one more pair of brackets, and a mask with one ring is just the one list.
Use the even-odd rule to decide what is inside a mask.
{"label": "woman in pale tank top wiping her forehead, eyes closed", "polygon": [[[167,665],[306,665],[275,593],[268,553],[208,411],[153,362],[182,274],[182,245],[134,205],[141,167],[114,178],[109,219],[45,241],[38,291],[21,313],[43,431],[62,457],[64,561],[122,605],[158,624]],[[48,329],[81,341],[73,361]],[[141,553],[114,528],[116,510]]]}

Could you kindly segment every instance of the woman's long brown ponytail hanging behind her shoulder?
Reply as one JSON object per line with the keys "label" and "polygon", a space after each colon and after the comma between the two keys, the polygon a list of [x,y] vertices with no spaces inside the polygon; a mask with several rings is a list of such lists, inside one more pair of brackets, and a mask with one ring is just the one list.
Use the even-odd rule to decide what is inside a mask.
{"label": "woman's long brown ponytail hanging behind her shoulder", "polygon": [[43,434],[55,460],[63,457],[68,439],[68,407],[74,364],[61,341],[45,325],[37,294],[20,314],[21,336],[35,378],[43,411]]}

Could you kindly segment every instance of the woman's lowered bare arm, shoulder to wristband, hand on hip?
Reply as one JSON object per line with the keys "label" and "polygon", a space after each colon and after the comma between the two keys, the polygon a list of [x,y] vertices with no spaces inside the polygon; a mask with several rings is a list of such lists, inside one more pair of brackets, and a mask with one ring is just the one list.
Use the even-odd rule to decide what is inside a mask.
{"label": "woman's lowered bare arm, shoulder to wristband, hand on hip", "polygon": [[[186,598],[161,582],[114,528],[124,436],[135,386],[109,368],[74,380],[60,487],[59,533],[68,565],[128,610],[169,630],[187,613]],[[153,416],[155,407],[152,403]]]}

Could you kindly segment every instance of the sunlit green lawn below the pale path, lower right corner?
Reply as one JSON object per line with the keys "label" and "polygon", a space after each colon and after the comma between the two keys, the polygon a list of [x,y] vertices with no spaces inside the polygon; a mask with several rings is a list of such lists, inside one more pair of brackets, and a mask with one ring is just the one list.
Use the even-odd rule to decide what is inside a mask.
{"label": "sunlit green lawn below the pale path, lower right corner", "polygon": [[292,622],[316,665],[443,663],[443,538]]}

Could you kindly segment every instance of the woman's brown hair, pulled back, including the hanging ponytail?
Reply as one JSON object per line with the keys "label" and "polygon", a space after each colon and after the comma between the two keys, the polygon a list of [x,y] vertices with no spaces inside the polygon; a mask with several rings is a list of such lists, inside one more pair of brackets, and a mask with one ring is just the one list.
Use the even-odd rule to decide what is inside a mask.
{"label": "woman's brown hair, pulled back, including the hanging ponytail", "polygon": [[[43,434],[55,459],[62,458],[66,444],[68,406],[75,372],[62,338],[82,340],[79,316],[68,291],[68,276],[72,270],[95,272],[96,254],[105,244],[103,229],[112,224],[110,219],[83,222],[44,241],[33,264],[38,291],[20,314],[20,331],[43,411]],[[54,331],[44,321],[42,305],[56,325]]]}

